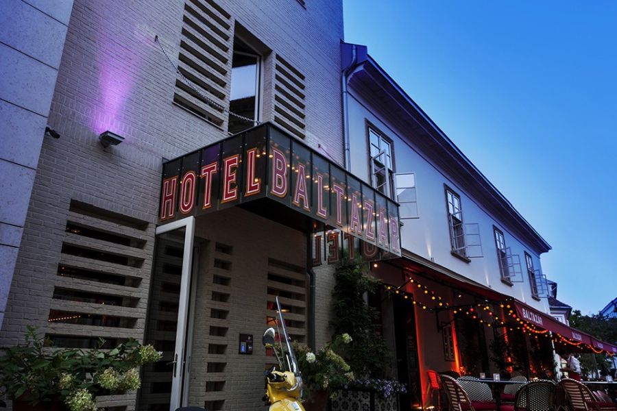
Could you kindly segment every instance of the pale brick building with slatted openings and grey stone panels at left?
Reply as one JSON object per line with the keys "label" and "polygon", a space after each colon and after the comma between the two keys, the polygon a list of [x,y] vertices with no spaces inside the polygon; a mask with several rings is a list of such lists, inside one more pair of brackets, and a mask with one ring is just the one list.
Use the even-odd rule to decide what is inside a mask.
{"label": "pale brick building with slatted openings and grey stone panels at left", "polygon": [[[11,193],[1,200],[0,345],[18,343],[27,325],[38,325],[61,347],[146,338],[171,361],[182,259],[169,235],[153,268],[162,162],[251,127],[229,125],[221,107],[230,99],[237,100],[232,110],[342,162],[341,2],[38,3],[3,1],[0,13],[8,18],[0,33],[8,70],[0,166]],[[155,36],[199,92],[174,72]],[[247,66],[255,81],[248,108],[246,83],[231,97],[232,71],[242,79]],[[47,124],[59,139],[43,137]],[[106,131],[124,141],[103,147]],[[249,228],[235,232],[247,219]],[[195,236],[197,362],[186,398],[210,410],[261,410],[263,347],[240,355],[239,334],[259,339],[268,295],[289,283],[298,287],[295,334],[306,340],[311,332],[323,343],[330,268],[315,270],[311,325],[301,232],[233,208],[197,219]],[[149,295],[157,306],[146,323]],[[158,366],[143,375],[140,409],[169,409],[171,368]],[[135,403],[129,393],[99,405]]]}

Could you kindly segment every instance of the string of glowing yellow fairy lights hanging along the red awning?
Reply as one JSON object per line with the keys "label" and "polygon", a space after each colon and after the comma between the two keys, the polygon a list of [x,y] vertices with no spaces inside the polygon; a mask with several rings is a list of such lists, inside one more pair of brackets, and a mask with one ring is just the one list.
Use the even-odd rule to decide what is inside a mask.
{"label": "string of glowing yellow fairy lights hanging along the red awning", "polygon": [[[438,292],[429,288],[423,282],[420,282],[418,278],[412,277],[411,273],[407,272],[406,275],[407,280],[403,284],[400,284],[400,286],[383,284],[383,288],[388,295],[392,297],[401,297],[409,301],[413,306],[418,306],[418,308],[424,311],[450,311],[455,316],[465,316],[491,329],[502,327],[509,331],[520,331],[535,339],[544,336],[545,338],[552,338],[556,343],[562,343],[571,347],[579,347],[581,350],[589,348],[594,353],[598,354],[606,352],[603,349],[596,349],[593,346],[585,345],[580,341],[571,340],[561,334],[551,333],[548,329],[537,327],[535,324],[521,319],[520,316],[516,314],[516,308],[513,306],[510,299],[498,303],[498,308],[492,307],[492,304],[496,303],[487,302],[451,306]],[[413,291],[408,291],[408,289]],[[606,353],[609,356],[614,356],[613,353]]]}

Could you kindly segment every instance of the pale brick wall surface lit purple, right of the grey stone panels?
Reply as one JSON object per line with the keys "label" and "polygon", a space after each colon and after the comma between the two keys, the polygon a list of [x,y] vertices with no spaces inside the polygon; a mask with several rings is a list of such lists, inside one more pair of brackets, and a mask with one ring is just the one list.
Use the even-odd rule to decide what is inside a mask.
{"label": "pale brick wall surface lit purple, right of the grey stone panels", "polygon": [[[342,162],[341,2],[310,1],[306,8],[295,0],[219,1],[219,5],[232,21],[306,75],[306,142],[315,149],[321,144]],[[176,60],[183,7],[184,0],[75,1],[49,114],[49,124],[62,137],[43,142],[0,345],[17,343],[27,325],[49,331],[47,319],[71,200],[146,222],[148,257],[141,270],[149,273],[162,158],[226,136],[223,129],[172,103],[176,74],[153,40],[158,34]],[[271,59],[266,58],[268,62]],[[273,101],[271,92],[265,90],[264,95],[267,121]],[[103,149],[97,136],[106,129],[125,141]],[[331,277],[327,270],[316,271],[317,306],[322,308],[327,306]],[[148,289],[146,274],[135,290],[140,301],[131,315],[137,321],[128,332],[140,339]],[[320,343],[326,333],[326,311],[317,315]]]}

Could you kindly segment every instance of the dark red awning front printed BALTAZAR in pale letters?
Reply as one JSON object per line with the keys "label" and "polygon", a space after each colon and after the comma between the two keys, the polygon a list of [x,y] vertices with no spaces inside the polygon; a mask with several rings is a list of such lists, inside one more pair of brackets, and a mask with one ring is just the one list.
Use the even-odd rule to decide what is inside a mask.
{"label": "dark red awning front printed BALTAZAR in pale letters", "polygon": [[603,350],[607,353],[617,354],[617,347],[615,345],[604,343],[603,341],[600,341],[585,332],[561,323],[552,316],[545,314],[544,312],[540,312],[535,308],[531,308],[521,301],[515,299],[514,307],[516,308],[516,314],[520,319],[536,325],[537,327],[548,329],[548,331],[566,338],[570,342],[582,343],[588,345],[594,350]]}

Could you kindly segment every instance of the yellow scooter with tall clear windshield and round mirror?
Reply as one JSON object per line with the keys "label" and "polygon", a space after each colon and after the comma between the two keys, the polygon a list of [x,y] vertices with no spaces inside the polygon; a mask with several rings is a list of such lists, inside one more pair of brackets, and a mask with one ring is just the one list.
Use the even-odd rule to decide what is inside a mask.
{"label": "yellow scooter with tall clear windshield and round mirror", "polygon": [[[266,395],[263,397],[263,400],[269,404],[269,411],[304,411],[304,407],[300,403],[300,397],[302,397],[302,374],[298,369],[298,362],[293,354],[291,338],[287,334],[278,297],[276,297],[276,312],[278,313],[276,331],[272,327],[266,329],[263,333],[262,343],[264,347],[274,349],[279,369],[276,371],[276,367],[272,366],[271,369],[265,372]],[[280,356],[274,347],[277,332]],[[285,344],[283,344],[283,341],[285,341]]]}

